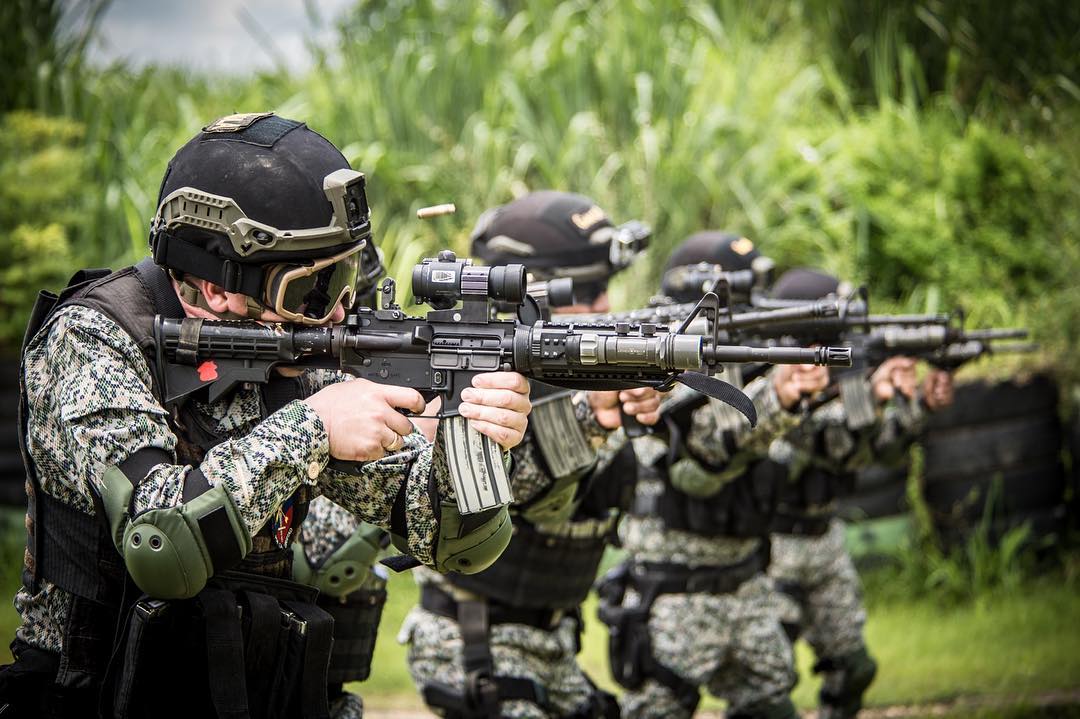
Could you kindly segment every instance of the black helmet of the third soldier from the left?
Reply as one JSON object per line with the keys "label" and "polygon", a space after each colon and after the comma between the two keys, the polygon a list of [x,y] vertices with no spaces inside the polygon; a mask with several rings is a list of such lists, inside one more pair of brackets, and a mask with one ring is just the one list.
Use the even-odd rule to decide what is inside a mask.
{"label": "black helmet of the third soldier from the left", "polygon": [[766,275],[762,283],[767,283],[772,260],[742,235],[718,230],[696,232],[667,258],[660,289],[676,302],[694,302],[704,294],[704,285],[715,284],[718,272],[741,270],[760,272]]}

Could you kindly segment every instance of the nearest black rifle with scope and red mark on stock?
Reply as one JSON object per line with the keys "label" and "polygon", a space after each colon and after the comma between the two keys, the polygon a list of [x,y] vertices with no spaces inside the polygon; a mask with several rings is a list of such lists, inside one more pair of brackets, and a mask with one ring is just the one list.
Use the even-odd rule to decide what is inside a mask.
{"label": "nearest black rifle with scope and red mark on stock", "polygon": [[[440,417],[456,420],[446,442],[459,507],[473,513],[511,501],[501,455],[457,413],[461,390],[480,372],[512,370],[581,390],[667,390],[681,382],[731,404],[753,425],[757,418],[750,399],[713,377],[721,363],[850,364],[848,348],[732,347],[683,328],[544,321],[526,294],[523,266],[473,267],[451,252],[414,268],[414,297],[433,308],[426,316],[402,311],[392,280],[384,280],[379,291],[381,309],[355,308],[336,326],[157,317],[166,405],[203,390],[214,402],[238,383],[268,382],[279,366],[340,369],[419,390],[429,399],[441,396]],[[517,304],[517,316],[494,316],[492,300]],[[699,314],[715,315],[718,307],[716,295],[707,295],[685,324]],[[480,469],[470,475],[471,464]]]}

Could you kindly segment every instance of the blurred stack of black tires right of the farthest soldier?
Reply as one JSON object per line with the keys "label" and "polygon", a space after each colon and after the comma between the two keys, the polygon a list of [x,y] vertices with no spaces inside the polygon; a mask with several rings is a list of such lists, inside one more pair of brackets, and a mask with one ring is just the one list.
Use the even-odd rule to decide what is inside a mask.
{"label": "blurred stack of black tires right of the farthest soldier", "polygon": [[[985,519],[999,540],[1025,523],[1034,539],[1059,537],[1065,519],[1063,432],[1052,379],[976,382],[932,416],[923,497],[946,546],[962,544]],[[989,501],[988,501],[989,500]]]}

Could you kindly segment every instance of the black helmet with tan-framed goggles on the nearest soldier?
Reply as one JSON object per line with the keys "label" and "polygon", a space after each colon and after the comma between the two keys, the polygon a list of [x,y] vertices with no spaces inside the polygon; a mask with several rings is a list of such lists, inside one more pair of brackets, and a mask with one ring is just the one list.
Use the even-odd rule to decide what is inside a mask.
{"label": "black helmet with tan-framed goggles on the nearest soldier", "polygon": [[362,289],[364,250],[374,252],[364,186],[301,122],[271,112],[221,118],[168,163],[150,229],[154,261],[247,295],[249,313],[322,322]]}

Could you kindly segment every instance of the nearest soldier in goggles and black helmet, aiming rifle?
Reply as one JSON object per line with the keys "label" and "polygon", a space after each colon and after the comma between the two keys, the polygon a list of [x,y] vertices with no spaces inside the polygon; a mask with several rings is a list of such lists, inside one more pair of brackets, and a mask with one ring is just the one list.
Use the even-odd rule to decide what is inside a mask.
{"label": "nearest soldier in goggles and black helmet, aiming rifle", "polygon": [[[325,717],[332,622],[289,581],[320,494],[431,567],[502,550],[504,510],[472,532],[450,516],[440,445],[397,411],[423,410],[414,390],[284,370],[213,403],[161,394],[156,314],[338,322],[368,242],[363,175],[330,143],[269,112],[230,116],[170,162],[152,260],[42,297],[23,358],[28,537],[8,711]],[[480,376],[461,413],[510,448],[527,388]]]}

